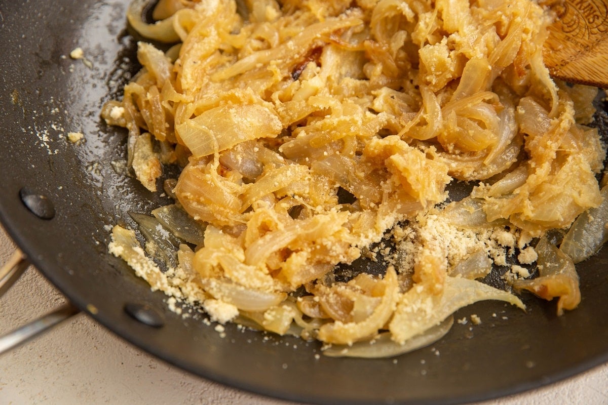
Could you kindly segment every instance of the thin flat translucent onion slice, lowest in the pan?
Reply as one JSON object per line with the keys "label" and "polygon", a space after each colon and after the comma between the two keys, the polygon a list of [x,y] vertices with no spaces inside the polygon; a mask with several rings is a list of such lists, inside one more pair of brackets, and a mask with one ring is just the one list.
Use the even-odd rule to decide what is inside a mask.
{"label": "thin flat translucent onion slice, lowest in the pan", "polygon": [[323,350],[323,355],[329,357],[358,357],[358,358],[389,358],[413,352],[437,342],[443,338],[454,324],[454,316],[449,316],[443,322],[427,329],[420,335],[407,339],[399,344],[390,338],[390,332],[380,333],[370,341],[355,342],[353,345],[331,345]]}

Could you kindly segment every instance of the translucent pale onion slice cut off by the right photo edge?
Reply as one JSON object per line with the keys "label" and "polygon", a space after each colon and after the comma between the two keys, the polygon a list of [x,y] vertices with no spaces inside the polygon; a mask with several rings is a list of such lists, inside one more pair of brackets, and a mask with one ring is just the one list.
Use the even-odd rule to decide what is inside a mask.
{"label": "translucent pale onion slice cut off by the right photo edge", "polygon": [[603,202],[578,216],[559,247],[575,264],[597,253],[608,240],[608,186],[600,194]]}

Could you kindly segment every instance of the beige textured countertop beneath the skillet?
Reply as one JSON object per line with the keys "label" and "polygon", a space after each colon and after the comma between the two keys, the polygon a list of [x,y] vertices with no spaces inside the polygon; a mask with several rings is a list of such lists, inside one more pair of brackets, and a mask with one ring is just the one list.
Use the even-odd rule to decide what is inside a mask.
{"label": "beige textured countertop beneath the skillet", "polygon": [[[0,228],[0,264],[12,252]],[[35,269],[0,299],[0,334],[64,301]],[[190,375],[133,347],[85,315],[0,356],[5,404],[289,405]],[[608,364],[548,387],[483,405],[608,404]],[[478,405],[482,405],[478,404]]]}

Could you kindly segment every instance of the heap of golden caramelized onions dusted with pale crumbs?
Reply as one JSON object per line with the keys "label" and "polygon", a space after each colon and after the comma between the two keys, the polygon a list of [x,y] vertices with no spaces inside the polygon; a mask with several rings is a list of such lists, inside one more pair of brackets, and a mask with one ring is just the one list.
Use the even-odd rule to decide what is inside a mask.
{"label": "heap of golden caramelized onions dusted with pale crumbs", "polygon": [[[183,169],[175,205],[133,214],[168,270],[133,231],[115,228],[112,253],[211,319],[394,356],[472,302],[523,308],[475,281],[518,243],[577,216],[562,251],[582,260],[608,239],[605,146],[581,126],[595,90],[551,79],[537,2],[161,0],[154,24],[146,4],[130,5],[134,29],[179,44],[139,43],[142,70],[102,116],[128,129],[126,166],[150,191],[161,163]],[[452,178],[483,183],[444,205]],[[515,289],[576,307],[572,260],[537,251],[540,276]],[[400,268],[336,267],[371,253]]]}

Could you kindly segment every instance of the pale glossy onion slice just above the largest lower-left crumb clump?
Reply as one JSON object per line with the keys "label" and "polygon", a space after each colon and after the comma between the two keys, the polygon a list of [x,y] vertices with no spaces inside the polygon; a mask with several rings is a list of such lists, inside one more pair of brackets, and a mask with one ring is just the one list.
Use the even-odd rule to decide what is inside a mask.
{"label": "pale glossy onion slice just above the largest lower-left crumb clump", "polygon": [[251,290],[223,279],[201,279],[202,288],[213,298],[232,304],[240,310],[261,312],[280,304],[285,293]]}

